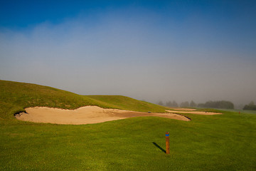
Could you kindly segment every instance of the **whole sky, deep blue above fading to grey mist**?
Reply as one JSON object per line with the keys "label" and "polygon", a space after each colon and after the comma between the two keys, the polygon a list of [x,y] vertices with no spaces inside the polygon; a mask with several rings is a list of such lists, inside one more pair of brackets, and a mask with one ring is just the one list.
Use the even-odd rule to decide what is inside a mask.
{"label": "whole sky, deep blue above fading to grey mist", "polygon": [[256,103],[256,1],[0,1],[0,79]]}

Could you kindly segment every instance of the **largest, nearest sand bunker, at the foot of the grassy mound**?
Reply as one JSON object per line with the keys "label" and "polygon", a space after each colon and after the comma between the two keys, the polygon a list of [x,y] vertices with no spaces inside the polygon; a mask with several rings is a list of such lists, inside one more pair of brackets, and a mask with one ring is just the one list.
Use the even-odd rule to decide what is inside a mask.
{"label": "largest, nearest sand bunker, at the foot of the grassy mound", "polygon": [[76,110],[46,107],[26,108],[26,113],[20,113],[16,115],[16,118],[18,120],[26,120],[34,123],[81,125],[88,123],[104,123],[110,120],[120,120],[138,116],[158,116],[176,120],[189,120],[183,115],[174,113],[142,113],[129,110],[104,109],[97,106],[85,106]]}

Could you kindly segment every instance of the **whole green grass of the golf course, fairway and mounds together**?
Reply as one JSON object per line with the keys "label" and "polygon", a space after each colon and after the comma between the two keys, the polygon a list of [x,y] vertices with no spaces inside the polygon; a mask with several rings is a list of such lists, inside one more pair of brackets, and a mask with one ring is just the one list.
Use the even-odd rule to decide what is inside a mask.
{"label": "whole green grass of the golf course, fairway and mounds together", "polygon": [[[0,81],[0,95],[0,170],[256,170],[254,114],[215,110],[223,115],[183,114],[192,119],[188,122],[138,117],[54,125],[16,120],[14,113],[33,106],[158,113],[166,108],[10,81]],[[166,131],[170,155],[164,153]]]}

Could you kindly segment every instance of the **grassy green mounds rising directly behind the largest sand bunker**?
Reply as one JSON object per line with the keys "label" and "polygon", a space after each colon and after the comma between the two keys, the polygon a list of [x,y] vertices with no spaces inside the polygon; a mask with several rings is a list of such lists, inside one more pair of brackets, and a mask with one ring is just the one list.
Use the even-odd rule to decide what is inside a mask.
{"label": "grassy green mounds rising directly behind the largest sand bunker", "polygon": [[75,109],[85,105],[135,111],[165,112],[159,105],[146,103],[121,95],[78,95],[65,90],[31,83],[0,81],[0,120],[11,119],[24,108],[46,106]]}

